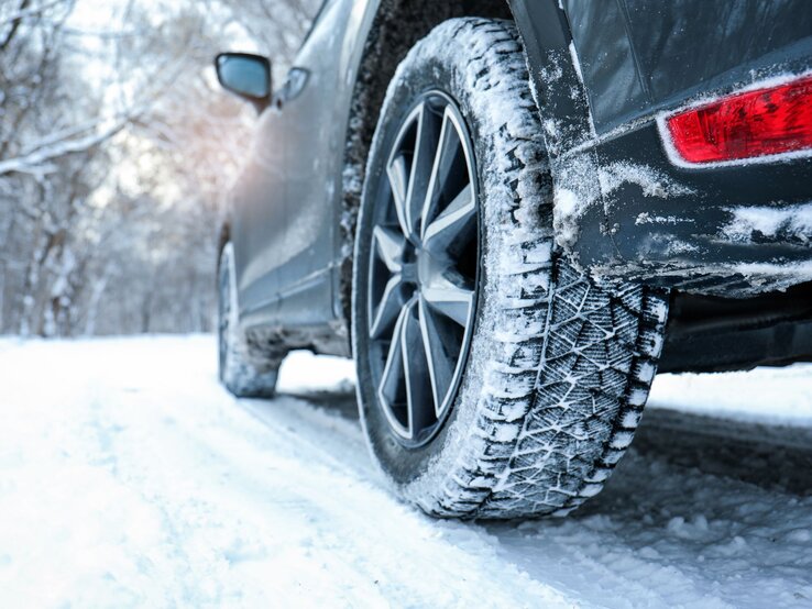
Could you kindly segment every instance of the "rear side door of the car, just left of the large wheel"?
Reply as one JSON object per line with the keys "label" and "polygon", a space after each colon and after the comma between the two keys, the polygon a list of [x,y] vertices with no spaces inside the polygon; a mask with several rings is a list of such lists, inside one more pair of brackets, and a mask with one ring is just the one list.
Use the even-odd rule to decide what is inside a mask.
{"label": "rear side door of the car, just left of the large wheel", "polygon": [[365,2],[327,0],[296,56],[282,91],[285,130],[287,263],[281,275],[285,324],[330,321],[338,236],[344,121],[337,108],[349,96],[342,79],[348,20]]}

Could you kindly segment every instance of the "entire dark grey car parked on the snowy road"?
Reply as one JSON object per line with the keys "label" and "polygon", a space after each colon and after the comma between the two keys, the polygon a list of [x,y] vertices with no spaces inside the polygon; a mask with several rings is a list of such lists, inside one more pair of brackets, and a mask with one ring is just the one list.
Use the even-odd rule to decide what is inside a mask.
{"label": "entire dark grey car parked on the snowy road", "polygon": [[327,0],[276,91],[264,57],[216,64],[260,113],[221,379],[354,356],[428,513],[568,513],[658,368],[812,361],[806,0]]}

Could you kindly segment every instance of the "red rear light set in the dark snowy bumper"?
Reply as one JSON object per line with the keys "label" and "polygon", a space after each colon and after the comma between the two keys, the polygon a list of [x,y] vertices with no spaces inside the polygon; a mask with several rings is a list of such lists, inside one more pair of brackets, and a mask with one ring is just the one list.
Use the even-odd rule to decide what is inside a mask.
{"label": "red rear light set in the dark snowy bumper", "polygon": [[718,163],[812,148],[812,77],[736,93],[667,119],[688,163]]}

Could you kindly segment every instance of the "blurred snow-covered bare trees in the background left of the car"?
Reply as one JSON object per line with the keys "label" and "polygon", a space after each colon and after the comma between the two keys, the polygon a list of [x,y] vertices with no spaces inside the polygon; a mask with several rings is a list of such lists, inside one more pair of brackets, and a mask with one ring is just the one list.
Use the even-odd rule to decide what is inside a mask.
{"label": "blurred snow-covered bare trees in the background left of the car", "polygon": [[0,332],[209,331],[255,120],[210,62],[248,44],[285,69],[318,0],[131,1],[102,31],[80,2],[0,5]]}

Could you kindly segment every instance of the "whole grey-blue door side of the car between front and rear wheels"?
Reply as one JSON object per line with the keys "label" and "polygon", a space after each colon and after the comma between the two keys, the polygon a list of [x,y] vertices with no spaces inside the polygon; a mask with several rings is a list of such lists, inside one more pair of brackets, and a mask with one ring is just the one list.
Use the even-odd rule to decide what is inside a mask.
{"label": "whole grey-blue door side of the car between front and rear wheels", "polygon": [[262,114],[263,144],[238,182],[232,220],[234,241],[246,242],[241,257],[250,261],[240,284],[248,328],[326,325],[339,313],[340,163],[352,90],[347,76],[351,55],[360,55],[366,5],[327,1],[273,107]]}

